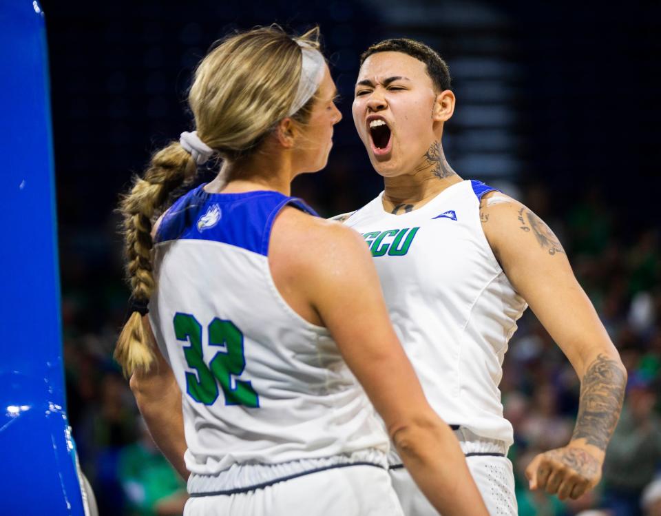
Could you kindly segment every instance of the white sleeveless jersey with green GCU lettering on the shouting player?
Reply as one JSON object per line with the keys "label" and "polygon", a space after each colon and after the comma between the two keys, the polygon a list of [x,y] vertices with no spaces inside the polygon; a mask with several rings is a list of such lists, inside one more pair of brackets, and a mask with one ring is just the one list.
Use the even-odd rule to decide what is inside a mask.
{"label": "white sleeveless jersey with green GCU lettering on the shouting player", "polygon": [[509,445],[498,385],[526,305],[482,229],[479,202],[492,190],[466,180],[402,215],[384,211],[381,194],[346,225],[370,247],[390,318],[430,404],[445,422]]}

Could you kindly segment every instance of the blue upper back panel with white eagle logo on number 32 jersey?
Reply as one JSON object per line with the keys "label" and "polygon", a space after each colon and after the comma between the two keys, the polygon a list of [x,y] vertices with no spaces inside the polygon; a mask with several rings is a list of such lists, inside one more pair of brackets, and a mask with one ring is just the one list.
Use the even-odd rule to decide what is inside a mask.
{"label": "blue upper back panel with white eagle logo on number 32 jersey", "polygon": [[302,200],[280,192],[209,194],[204,185],[191,190],[172,205],[162,218],[155,242],[213,240],[267,256],[273,221],[287,205],[313,216]]}

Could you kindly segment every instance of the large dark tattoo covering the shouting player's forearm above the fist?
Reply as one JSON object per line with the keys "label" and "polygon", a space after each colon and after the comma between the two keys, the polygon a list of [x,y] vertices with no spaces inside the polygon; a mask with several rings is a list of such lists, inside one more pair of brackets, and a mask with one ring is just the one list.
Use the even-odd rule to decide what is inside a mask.
{"label": "large dark tattoo covering the shouting player's forearm above the fist", "polygon": [[572,440],[585,439],[605,451],[618,424],[627,377],[618,362],[598,355],[580,382],[578,417]]}

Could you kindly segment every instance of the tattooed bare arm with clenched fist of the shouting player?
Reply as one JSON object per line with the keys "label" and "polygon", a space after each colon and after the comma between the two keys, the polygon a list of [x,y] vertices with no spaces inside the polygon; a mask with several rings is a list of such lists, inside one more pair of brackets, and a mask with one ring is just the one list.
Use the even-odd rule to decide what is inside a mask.
{"label": "tattooed bare arm with clenched fist of the shouting player", "polygon": [[531,488],[577,498],[598,484],[622,410],[627,373],[563,246],[530,209],[502,194],[481,203],[487,240],[507,278],[528,302],[580,378],[576,428],[568,446],[535,457]]}

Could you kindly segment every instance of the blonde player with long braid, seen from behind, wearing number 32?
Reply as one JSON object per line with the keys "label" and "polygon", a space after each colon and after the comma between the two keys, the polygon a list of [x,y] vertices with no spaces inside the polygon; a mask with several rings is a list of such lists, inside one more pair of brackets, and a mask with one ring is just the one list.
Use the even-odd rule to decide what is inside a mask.
{"label": "blonde player with long braid, seen from behind, wearing number 32", "polygon": [[[156,152],[121,205],[136,311],[116,358],[188,477],[187,516],[401,516],[388,437],[443,515],[485,516],[363,240],[289,196],[297,174],[326,165],[341,118],[316,36],[252,30],[200,63],[196,131]],[[152,229],[211,156],[218,177]]]}

